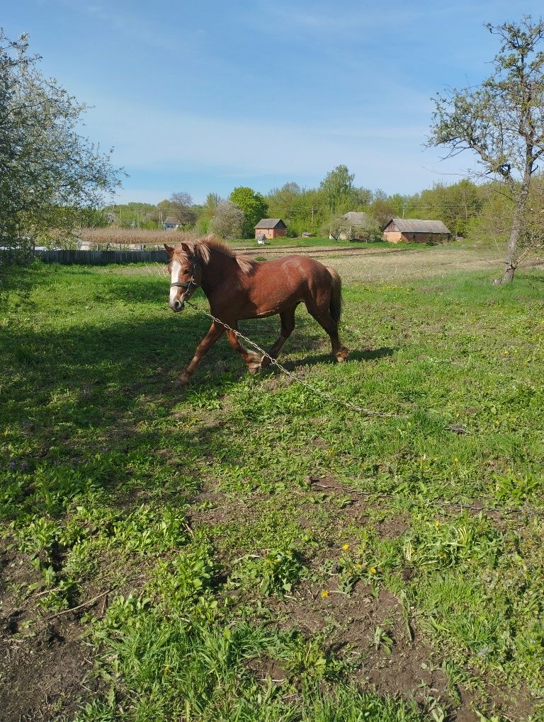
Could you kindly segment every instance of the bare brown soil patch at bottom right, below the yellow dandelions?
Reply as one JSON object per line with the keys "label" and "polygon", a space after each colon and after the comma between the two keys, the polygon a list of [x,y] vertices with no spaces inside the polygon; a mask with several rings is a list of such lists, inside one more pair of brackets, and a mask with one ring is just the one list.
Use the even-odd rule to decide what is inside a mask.
{"label": "bare brown soil patch at bottom right, below the yellow dandelions", "polygon": [[[470,693],[452,689],[441,660],[406,618],[397,597],[385,589],[376,595],[358,582],[350,596],[334,588],[324,596],[319,586],[306,586],[296,597],[278,601],[275,611],[284,629],[295,626],[310,635],[326,630],[327,651],[355,661],[351,679],[361,687],[415,699],[425,710],[441,705],[449,719],[459,722],[477,720],[470,711]],[[265,675],[267,669],[259,672]]]}

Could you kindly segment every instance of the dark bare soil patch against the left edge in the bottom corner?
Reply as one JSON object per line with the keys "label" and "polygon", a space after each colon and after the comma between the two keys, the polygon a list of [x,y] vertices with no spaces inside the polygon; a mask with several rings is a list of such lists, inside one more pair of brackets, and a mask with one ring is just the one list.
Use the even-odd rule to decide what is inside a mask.
{"label": "dark bare soil patch against the left edge in the bottom corner", "polygon": [[82,694],[92,692],[85,682],[92,662],[79,619],[40,614],[38,594],[21,593],[39,580],[38,571],[17,554],[0,558],[0,720],[45,722],[60,710],[70,716]]}

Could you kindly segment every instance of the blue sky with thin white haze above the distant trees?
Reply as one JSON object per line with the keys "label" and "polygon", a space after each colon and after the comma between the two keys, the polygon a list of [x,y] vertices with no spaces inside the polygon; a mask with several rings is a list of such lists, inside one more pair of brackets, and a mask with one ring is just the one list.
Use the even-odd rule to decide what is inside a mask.
{"label": "blue sky with thin white haze above the distant trees", "polygon": [[129,173],[117,200],[156,203],[315,187],[340,163],[387,193],[457,181],[470,155],[424,147],[431,97],[489,74],[483,23],[523,14],[541,0],[19,0],[0,23],[93,106],[85,134]]}

